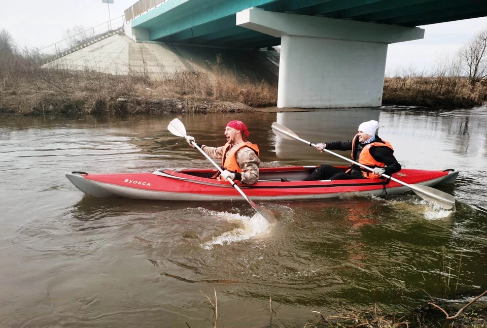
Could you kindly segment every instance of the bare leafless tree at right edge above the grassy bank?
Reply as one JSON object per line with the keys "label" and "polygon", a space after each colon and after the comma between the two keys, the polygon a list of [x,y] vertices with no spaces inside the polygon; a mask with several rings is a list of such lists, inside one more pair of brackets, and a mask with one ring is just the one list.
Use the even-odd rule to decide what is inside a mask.
{"label": "bare leafless tree at right edge above the grassy bank", "polygon": [[487,77],[487,28],[479,31],[475,38],[460,49],[464,73],[478,82]]}

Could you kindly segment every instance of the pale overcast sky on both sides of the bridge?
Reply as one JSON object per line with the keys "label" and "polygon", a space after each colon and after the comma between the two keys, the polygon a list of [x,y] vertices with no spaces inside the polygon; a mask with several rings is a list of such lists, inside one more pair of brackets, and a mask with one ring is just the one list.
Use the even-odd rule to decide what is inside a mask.
{"label": "pale overcast sky on both sides of the bridge", "polygon": [[[123,15],[135,0],[114,0],[111,18]],[[60,41],[68,28],[92,27],[108,21],[108,5],[101,0],[2,1],[0,29],[6,28],[21,47],[45,47]],[[427,70],[436,61],[454,56],[459,47],[487,27],[487,17],[420,26],[425,38],[389,45],[386,74],[396,68]]]}

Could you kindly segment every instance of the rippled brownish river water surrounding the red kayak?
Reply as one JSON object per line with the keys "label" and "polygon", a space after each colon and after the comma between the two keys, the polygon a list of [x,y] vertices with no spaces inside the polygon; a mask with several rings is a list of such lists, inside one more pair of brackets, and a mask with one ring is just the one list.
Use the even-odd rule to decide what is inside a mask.
{"label": "rippled brownish river water surrounding the red kayak", "polygon": [[487,108],[178,117],[212,146],[229,120],[246,122],[262,166],[344,164],[276,138],[273,121],[326,142],[377,119],[403,167],[461,171],[438,187],[456,211],[437,212],[412,192],[259,203],[275,213],[270,225],[245,202],[92,199],[64,172],[210,164],[167,131],[174,117],[0,117],[0,326],[211,327],[216,292],[219,326],[268,326],[272,298],[273,324],[302,327],[319,319],[310,310],[408,311],[487,287]]}

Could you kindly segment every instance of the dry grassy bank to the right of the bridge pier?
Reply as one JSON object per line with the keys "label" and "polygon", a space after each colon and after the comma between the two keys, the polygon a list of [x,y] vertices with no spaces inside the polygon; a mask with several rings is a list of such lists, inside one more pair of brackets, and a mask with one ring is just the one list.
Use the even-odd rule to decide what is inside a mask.
{"label": "dry grassy bank to the right of the bridge pier", "polygon": [[466,77],[402,76],[384,80],[382,105],[463,107],[480,106],[487,100],[487,81]]}

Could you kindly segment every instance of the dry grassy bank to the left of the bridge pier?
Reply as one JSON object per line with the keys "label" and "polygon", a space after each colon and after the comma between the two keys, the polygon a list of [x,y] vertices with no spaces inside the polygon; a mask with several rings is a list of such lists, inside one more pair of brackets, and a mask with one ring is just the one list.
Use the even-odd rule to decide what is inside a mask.
{"label": "dry grassy bank to the left of the bridge pier", "polygon": [[240,82],[224,71],[177,73],[159,81],[26,64],[0,80],[0,113],[21,115],[234,112],[276,102],[276,85]]}

